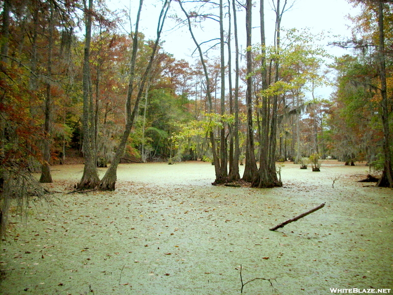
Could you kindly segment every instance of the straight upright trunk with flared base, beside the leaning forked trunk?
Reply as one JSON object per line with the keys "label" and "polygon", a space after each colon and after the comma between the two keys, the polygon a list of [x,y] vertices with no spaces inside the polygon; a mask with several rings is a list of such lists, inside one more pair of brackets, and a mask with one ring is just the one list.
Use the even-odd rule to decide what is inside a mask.
{"label": "straight upright trunk with flared base, beside the leaning forked trunk", "polygon": [[[84,37],[84,64],[83,64],[83,148],[84,148],[84,171],[81,181],[78,183],[78,189],[91,189],[98,186],[100,178],[97,174],[95,155],[93,154],[94,145],[92,135],[93,126],[91,126],[91,87],[90,87],[90,43],[91,43],[91,26],[92,26],[93,0],[88,0],[88,7],[84,2],[85,14],[85,37]],[[94,130],[94,129],[93,129]]]}

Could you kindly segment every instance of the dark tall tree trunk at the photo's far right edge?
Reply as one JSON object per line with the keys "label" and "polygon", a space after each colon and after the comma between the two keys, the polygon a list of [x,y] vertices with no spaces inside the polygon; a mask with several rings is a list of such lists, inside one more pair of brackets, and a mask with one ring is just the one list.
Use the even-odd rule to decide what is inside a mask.
{"label": "dark tall tree trunk at the photo's far right edge", "polygon": [[382,187],[393,187],[393,169],[392,169],[392,151],[391,151],[391,139],[389,129],[389,102],[386,86],[386,66],[385,66],[385,35],[384,35],[384,1],[378,1],[378,29],[379,29],[379,72],[381,78],[381,117],[382,127],[384,133],[383,139],[383,151],[384,151],[384,170],[382,176],[379,179],[377,186]]}

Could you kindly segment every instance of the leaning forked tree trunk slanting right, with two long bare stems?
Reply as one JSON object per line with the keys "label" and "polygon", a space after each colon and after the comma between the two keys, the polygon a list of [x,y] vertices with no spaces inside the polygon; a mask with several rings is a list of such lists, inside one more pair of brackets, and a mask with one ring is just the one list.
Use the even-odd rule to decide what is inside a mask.
{"label": "leaning forked tree trunk slanting right, with two long bare stems", "polygon": [[[143,4],[143,0],[140,0],[140,6],[139,6],[138,16],[137,16],[137,25],[135,28],[135,33],[134,33],[135,35],[134,35],[134,40],[133,40],[133,52],[132,52],[132,57],[131,57],[131,68],[130,68],[130,81],[128,84],[128,93],[127,93],[127,102],[126,102],[126,114],[127,114],[126,126],[125,126],[124,132],[121,136],[120,143],[117,146],[116,153],[113,157],[111,166],[108,168],[107,172],[105,173],[104,177],[101,180],[101,183],[100,183],[101,190],[113,191],[115,189],[117,166],[120,163],[120,158],[124,154],[124,151],[125,151],[125,148],[127,145],[127,141],[128,141],[128,137],[131,132],[131,128],[134,125],[134,119],[137,116],[140,98],[142,97],[144,85],[149,77],[150,70],[151,70],[151,67],[153,64],[153,60],[154,60],[155,54],[157,52],[158,44],[160,42],[161,32],[164,27],[164,22],[165,22],[165,19],[167,17],[167,13],[169,10],[170,0],[165,1],[163,8],[161,10],[160,17],[158,20],[158,26],[157,26],[157,38],[156,38],[156,41],[153,45],[153,50],[151,52],[150,59],[147,64],[146,70],[141,78],[139,91],[138,91],[137,98],[136,98],[135,104],[134,104],[134,109],[131,113],[131,98],[132,98],[132,93],[133,93],[133,82],[134,82],[134,78],[135,78],[135,64],[136,64],[136,60],[137,60],[137,51],[138,51],[138,25],[139,25],[139,20],[140,20],[140,11],[142,9],[142,4]],[[134,42],[136,42],[136,43],[134,43]]]}

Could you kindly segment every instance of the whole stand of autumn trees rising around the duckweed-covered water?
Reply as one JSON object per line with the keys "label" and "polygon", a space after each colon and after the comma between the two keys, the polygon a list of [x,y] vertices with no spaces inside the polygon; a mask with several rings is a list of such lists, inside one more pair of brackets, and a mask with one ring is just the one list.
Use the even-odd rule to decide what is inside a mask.
{"label": "whole stand of autumn trees rising around the duckweed-covered water", "polygon": [[[281,28],[293,1],[266,2],[271,32],[264,0],[163,0],[151,40],[139,30],[143,0],[132,17],[105,1],[0,1],[1,223],[11,198],[45,193],[31,173],[51,182],[50,165],[70,150],[84,156],[78,189],[114,190],[121,160],[197,159],[214,164],[214,184],[274,187],[282,185],[277,161],[328,156],[366,161],[381,171],[377,185],[392,187],[393,1],[350,1],[361,14],[353,37],[334,44],[353,48],[341,57],[317,45],[321,36]],[[165,52],[169,17],[189,29],[194,63]],[[215,38],[199,40],[199,26],[212,26]],[[332,95],[314,95],[324,85]],[[107,164],[99,179],[96,167]]]}

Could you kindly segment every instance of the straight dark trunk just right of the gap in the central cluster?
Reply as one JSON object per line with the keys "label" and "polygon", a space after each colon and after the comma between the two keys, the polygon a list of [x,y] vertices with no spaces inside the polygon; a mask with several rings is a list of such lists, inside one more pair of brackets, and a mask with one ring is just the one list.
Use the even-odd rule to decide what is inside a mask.
{"label": "straight dark trunk just right of the gap in the central cluster", "polygon": [[252,0],[246,1],[246,34],[247,34],[247,136],[246,136],[246,165],[244,167],[243,180],[252,182],[256,177],[258,167],[256,166],[253,138],[253,81],[251,73],[253,71],[252,51],[251,51],[251,31],[252,31]]}

